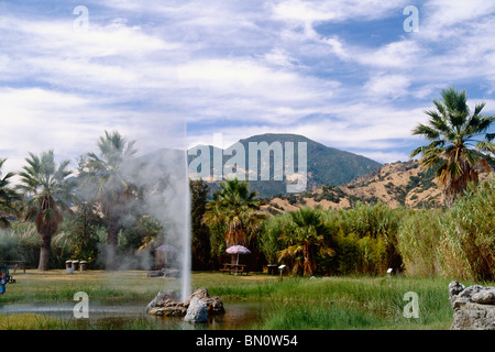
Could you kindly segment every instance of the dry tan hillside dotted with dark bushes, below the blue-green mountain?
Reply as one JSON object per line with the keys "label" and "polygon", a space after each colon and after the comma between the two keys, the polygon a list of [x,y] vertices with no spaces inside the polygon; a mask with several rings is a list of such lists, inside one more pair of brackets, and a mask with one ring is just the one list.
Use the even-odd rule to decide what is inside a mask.
{"label": "dry tan hillside dotted with dark bushes, below the blue-green mountain", "polygon": [[[386,164],[343,186],[321,186],[300,195],[273,197],[263,209],[272,213],[297,210],[300,206],[345,209],[355,202],[382,201],[391,208],[439,208],[443,196],[437,187],[436,170],[426,170],[417,161]],[[480,170],[480,180],[487,174]]]}

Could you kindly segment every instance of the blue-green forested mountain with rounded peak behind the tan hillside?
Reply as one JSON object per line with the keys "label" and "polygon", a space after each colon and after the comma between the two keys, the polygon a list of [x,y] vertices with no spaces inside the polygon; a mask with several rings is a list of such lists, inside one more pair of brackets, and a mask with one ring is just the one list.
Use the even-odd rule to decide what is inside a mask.
{"label": "blue-green forested mountain with rounded peak behind the tan hillside", "polygon": [[[290,143],[293,143],[294,145],[294,153],[290,153],[290,150],[288,148],[288,145],[290,145]],[[302,143],[306,143],[307,148],[306,156],[308,178],[306,190],[317,189],[322,185],[345,185],[351,180],[364,176],[382,166],[380,163],[367,157],[340,151],[333,147],[328,147],[302,135],[286,133],[266,133],[254,135],[249,139],[240,140],[238,143],[223,151],[211,145],[199,145],[188,151],[188,163],[189,166],[193,165],[193,168],[195,168],[195,166],[197,166],[199,162],[198,158],[202,155],[202,153],[207,153],[209,154],[208,163],[210,172],[207,173],[205,170],[205,174],[213,175],[215,173],[220,172],[215,167],[216,165],[213,155],[215,153],[217,153],[217,155],[221,155],[222,157],[221,160],[223,167],[234,166],[235,161],[240,161],[241,165],[238,165],[239,168],[234,169],[240,170],[241,173],[243,173],[243,175],[250,175],[251,177],[255,176],[256,180],[250,180],[250,188],[252,190],[256,190],[261,198],[273,197],[274,195],[287,195],[287,184],[290,183],[288,182],[289,175],[285,172],[284,167],[280,167],[282,164],[276,163],[274,157],[276,152],[272,152],[270,161],[267,160],[267,157],[263,157],[262,153],[258,153],[258,156],[256,158],[256,175],[253,174],[253,170],[250,167],[250,152],[256,152],[253,146],[257,146],[262,150],[272,148],[275,151],[282,151],[282,154],[276,155],[282,155],[280,157],[285,163],[289,162],[288,156],[294,155],[294,163],[289,164],[294,165],[294,170],[297,173],[300,151],[299,146],[301,146]],[[198,150],[201,150],[201,153],[198,153]],[[300,154],[300,156],[304,156],[304,154]],[[208,155],[202,155],[202,161],[207,161]],[[202,172],[202,167],[205,165],[201,165],[197,168],[198,173]],[[263,166],[270,167],[268,180],[261,180],[261,168]],[[274,175],[279,175],[282,180],[274,179]],[[218,180],[215,182],[213,179],[210,179],[209,182],[212,190],[218,189]]]}

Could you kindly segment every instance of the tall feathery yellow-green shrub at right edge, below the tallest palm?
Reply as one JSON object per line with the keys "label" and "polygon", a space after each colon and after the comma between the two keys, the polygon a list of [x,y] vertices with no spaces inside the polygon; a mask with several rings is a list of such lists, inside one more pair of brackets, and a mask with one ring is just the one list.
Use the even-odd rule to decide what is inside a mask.
{"label": "tall feathery yellow-green shrub at right edge, below the tallest palm", "polygon": [[471,185],[449,209],[409,211],[397,238],[410,275],[493,280],[495,178]]}

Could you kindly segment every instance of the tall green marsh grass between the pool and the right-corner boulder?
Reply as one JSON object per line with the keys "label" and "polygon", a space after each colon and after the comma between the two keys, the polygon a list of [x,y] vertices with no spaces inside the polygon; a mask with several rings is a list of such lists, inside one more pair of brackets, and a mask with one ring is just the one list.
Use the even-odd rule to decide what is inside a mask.
{"label": "tall green marsh grass between the pool and the right-corner boulder", "polygon": [[[448,282],[407,278],[332,278],[300,282],[282,298],[264,329],[448,329]],[[405,318],[404,294],[419,297],[419,318]],[[284,297],[284,298],[283,298]]]}

